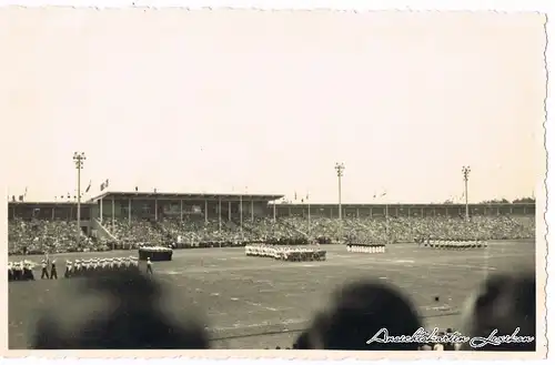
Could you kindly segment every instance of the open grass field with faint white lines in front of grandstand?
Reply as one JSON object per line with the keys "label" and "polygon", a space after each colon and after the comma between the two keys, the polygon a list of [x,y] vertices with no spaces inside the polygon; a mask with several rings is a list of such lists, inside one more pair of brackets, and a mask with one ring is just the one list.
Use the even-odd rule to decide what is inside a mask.
{"label": "open grass field with faint white lines in front of grandstand", "polygon": [[[181,250],[174,251],[172,262],[154,263],[153,270],[168,292],[162,305],[185,314],[194,305],[208,318],[213,347],[283,348],[291,346],[314,311],[346,281],[374,277],[392,283],[413,298],[427,326],[456,327],[464,298],[485,275],[533,267],[535,256],[533,242],[513,241],[458,252],[414,244],[392,245],[383,254],[347,253],[343,245],[326,250],[327,261],[311,263],[246,257],[243,249]],[[61,264],[65,258],[129,254],[60,254],[57,258]],[[14,260],[20,257],[10,257]],[[79,323],[101,307],[102,297],[75,293],[79,282],[10,283],[10,348],[30,347],[41,310],[53,308],[61,318]]]}

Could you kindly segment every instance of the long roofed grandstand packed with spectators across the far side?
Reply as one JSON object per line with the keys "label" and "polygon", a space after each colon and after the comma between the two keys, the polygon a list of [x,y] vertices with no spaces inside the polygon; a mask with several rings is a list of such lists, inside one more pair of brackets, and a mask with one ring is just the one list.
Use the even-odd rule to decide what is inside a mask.
{"label": "long roofed grandstand packed with spectators across the far side", "polygon": [[535,204],[286,204],[275,194],[105,192],[75,202],[9,202],[9,253],[107,251],[140,245],[244,245],[269,239],[413,242],[422,235],[534,237]]}

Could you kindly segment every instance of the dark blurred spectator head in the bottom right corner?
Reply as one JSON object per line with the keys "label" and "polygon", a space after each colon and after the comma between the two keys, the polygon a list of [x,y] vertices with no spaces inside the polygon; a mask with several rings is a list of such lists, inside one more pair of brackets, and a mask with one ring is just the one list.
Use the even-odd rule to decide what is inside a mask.
{"label": "dark blurred spectator head in the bottom right corner", "polygon": [[[474,351],[535,351],[536,280],[534,273],[488,277],[463,311],[464,335],[500,339],[464,344]],[[494,333],[494,337],[492,337]],[[506,339],[501,336],[511,336]],[[534,337],[534,341],[528,341]],[[472,346],[474,344],[474,346]]]}

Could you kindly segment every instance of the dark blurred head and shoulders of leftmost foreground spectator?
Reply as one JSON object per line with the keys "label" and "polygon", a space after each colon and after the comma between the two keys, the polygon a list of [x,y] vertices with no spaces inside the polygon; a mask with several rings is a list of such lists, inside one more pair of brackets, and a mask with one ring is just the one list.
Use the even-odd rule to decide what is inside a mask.
{"label": "dark blurred head and shoulders of leftmost foreground spectator", "polygon": [[104,313],[91,313],[88,321],[70,333],[54,320],[39,320],[33,348],[208,348],[208,335],[201,324],[171,323],[159,310],[159,285],[140,273],[121,273],[85,281],[84,291],[110,293]]}

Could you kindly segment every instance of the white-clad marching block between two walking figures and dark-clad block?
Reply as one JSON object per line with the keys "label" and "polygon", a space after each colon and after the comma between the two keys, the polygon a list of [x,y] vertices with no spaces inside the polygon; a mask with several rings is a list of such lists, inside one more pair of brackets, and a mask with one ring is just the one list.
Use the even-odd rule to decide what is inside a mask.
{"label": "white-clad marching block between two walking figures and dark-clad block", "polygon": [[[148,267],[151,267],[150,258],[147,262]],[[138,271],[139,258],[129,257],[105,257],[105,258],[88,258],[75,260],[75,262],[65,262],[64,277],[81,277],[103,275],[114,272]]]}

